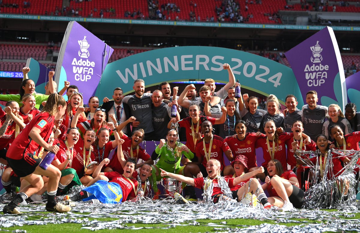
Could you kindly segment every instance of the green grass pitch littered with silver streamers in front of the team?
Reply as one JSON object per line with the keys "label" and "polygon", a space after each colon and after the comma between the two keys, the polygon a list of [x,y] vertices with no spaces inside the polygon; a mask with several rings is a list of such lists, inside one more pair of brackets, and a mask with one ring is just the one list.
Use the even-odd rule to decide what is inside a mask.
{"label": "green grass pitch littered with silver streamers in front of the team", "polygon": [[[299,210],[290,213],[262,211],[250,207],[216,205],[176,205],[173,203],[148,202],[125,205],[84,205],[74,207],[71,213],[59,214],[38,211],[44,206],[19,207],[21,215],[2,215],[1,230],[26,230],[26,232],[234,232],[240,228],[282,229],[290,232],[301,229],[303,232],[360,230],[360,213],[337,210]],[[156,210],[147,209],[152,206]],[[160,208],[160,209],[159,209]],[[90,210],[90,211],[88,211]],[[229,213],[236,214],[233,216]],[[271,225],[269,225],[271,224]],[[332,224],[332,225],[329,225]],[[9,227],[11,226],[11,227]],[[335,226],[335,227],[334,227]],[[249,228],[251,227],[251,228]],[[86,228],[86,229],[84,229]],[[238,229],[237,229],[238,228]],[[265,229],[264,229],[265,228]],[[276,231],[275,231],[276,232]],[[310,231],[309,231],[310,232]]]}

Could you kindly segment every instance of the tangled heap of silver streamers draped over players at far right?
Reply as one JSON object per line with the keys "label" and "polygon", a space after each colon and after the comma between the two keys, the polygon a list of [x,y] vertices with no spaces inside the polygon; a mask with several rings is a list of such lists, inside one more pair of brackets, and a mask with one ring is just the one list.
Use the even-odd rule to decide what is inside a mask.
{"label": "tangled heap of silver streamers draped over players at far right", "polygon": [[[294,156],[310,167],[308,181],[311,185],[305,192],[303,207],[308,209],[330,208],[330,209],[357,209],[356,205],[356,184],[354,168],[360,156],[360,151],[354,150],[329,150],[328,157],[323,171],[323,177],[320,174],[319,160],[312,164],[306,157],[317,157],[320,153],[317,151],[297,151]],[[300,156],[299,156],[299,155]],[[350,162],[344,164],[344,167],[334,174],[334,159],[348,157]],[[348,194],[344,196],[342,190],[348,183]]]}

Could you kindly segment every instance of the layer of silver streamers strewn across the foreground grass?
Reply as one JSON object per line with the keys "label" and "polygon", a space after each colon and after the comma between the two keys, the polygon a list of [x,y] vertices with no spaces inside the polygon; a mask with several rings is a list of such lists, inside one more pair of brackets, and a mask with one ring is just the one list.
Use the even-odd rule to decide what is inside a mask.
{"label": "layer of silver streamers strewn across the foreground grass", "polygon": [[[79,190],[76,190],[76,192],[78,191]],[[59,199],[62,199],[62,197]],[[2,203],[5,205],[8,202],[2,200]],[[23,214],[1,216],[1,229],[4,227],[16,227],[18,230],[21,230],[23,229],[23,225],[63,223],[82,224],[82,229],[93,231],[100,229],[159,230],[188,225],[210,226],[213,227],[212,232],[302,233],[359,231],[360,229],[360,219],[354,219],[358,209],[346,211],[299,209],[285,213],[274,211],[274,209],[265,211],[253,207],[244,207],[244,205],[239,202],[229,201],[222,201],[217,204],[178,205],[172,199],[153,201],[146,198],[141,204],[130,201],[125,201],[121,204],[90,204],[77,202],[76,206],[72,207],[71,212],[64,214],[39,213],[45,210],[45,204],[20,205],[18,210]],[[301,216],[301,218],[299,218],[299,216]],[[89,217],[94,220],[88,219]],[[114,218],[116,220],[101,220],[103,218]],[[226,221],[234,218],[273,221],[274,224],[264,223],[258,226],[231,225],[231,227],[228,227]],[[198,220],[201,219],[221,219],[223,221],[219,224],[202,224],[198,222]],[[309,220],[316,220],[318,223],[309,224]],[[297,225],[289,227],[284,225],[289,223]],[[149,226],[134,227],[134,224],[149,224]],[[151,226],[150,224],[158,225]]]}

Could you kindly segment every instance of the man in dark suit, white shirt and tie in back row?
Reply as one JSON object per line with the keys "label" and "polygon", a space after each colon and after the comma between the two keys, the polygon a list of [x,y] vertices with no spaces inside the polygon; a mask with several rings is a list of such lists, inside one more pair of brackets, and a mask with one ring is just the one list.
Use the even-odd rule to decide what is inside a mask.
{"label": "man in dark suit, white shirt and tie in back row", "polygon": [[[108,97],[105,97],[103,104],[100,108],[105,109],[106,112],[106,121],[113,122],[109,119],[109,114],[114,114],[117,122],[113,122],[115,126],[125,122],[131,116],[129,105],[122,102],[122,89],[116,87],[113,94],[113,100],[109,100]],[[131,136],[130,124],[127,124],[126,127],[122,129],[122,132],[127,136]]]}

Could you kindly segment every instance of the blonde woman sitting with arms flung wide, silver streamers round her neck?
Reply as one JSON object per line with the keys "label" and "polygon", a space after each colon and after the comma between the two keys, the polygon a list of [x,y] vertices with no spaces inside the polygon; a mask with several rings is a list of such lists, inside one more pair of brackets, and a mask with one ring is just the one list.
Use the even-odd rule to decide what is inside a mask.
{"label": "blonde woman sitting with arms flung wide, silver streamers round her neck", "polygon": [[[245,181],[252,177],[254,174],[244,174],[236,178],[224,178],[220,175],[221,164],[219,160],[210,159],[206,164],[206,172],[208,176],[206,178],[202,177],[201,173],[197,175],[197,178],[190,178],[185,177],[183,175],[178,175],[170,172],[166,172],[162,169],[161,176],[171,177],[181,182],[186,182],[196,188],[203,188],[204,189],[204,201],[212,201],[213,203],[217,203],[220,200],[226,201],[234,201],[236,202],[232,196],[232,192],[230,188],[235,187],[242,181]],[[264,172],[264,168],[260,167],[259,172]],[[175,200],[179,204],[185,204],[188,201],[181,196],[179,193],[175,193]]]}

